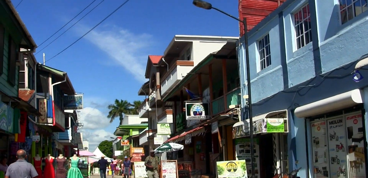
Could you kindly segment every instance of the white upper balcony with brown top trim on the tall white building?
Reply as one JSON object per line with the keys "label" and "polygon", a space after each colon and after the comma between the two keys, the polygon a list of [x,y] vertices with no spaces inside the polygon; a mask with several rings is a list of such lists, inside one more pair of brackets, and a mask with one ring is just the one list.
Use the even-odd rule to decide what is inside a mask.
{"label": "white upper balcony with brown top trim on the tall white building", "polygon": [[169,71],[160,79],[161,96],[166,96],[171,89],[178,84],[181,79],[189,73],[194,66],[194,61],[178,60],[170,67]]}

